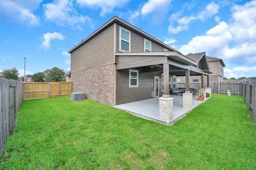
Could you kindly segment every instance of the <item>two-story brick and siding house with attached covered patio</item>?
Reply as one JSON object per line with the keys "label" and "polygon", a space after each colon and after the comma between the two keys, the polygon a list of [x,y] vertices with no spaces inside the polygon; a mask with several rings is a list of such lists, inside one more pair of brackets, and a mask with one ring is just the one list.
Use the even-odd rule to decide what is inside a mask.
{"label": "two-story brick and siding house with attached covered patio", "polygon": [[168,98],[175,75],[213,73],[205,57],[193,61],[116,16],[68,53],[73,91],[108,105]]}

